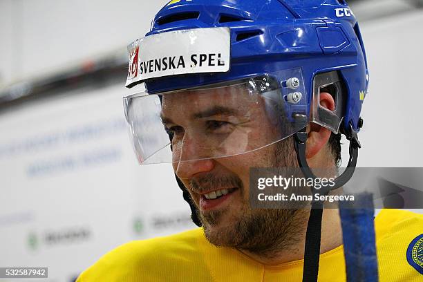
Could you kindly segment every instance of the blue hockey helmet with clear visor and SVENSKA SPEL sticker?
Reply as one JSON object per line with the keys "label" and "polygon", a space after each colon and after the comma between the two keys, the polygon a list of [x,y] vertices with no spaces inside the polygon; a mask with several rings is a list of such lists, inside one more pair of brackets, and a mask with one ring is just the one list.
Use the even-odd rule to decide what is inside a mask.
{"label": "blue hockey helmet with clear visor and SVENSKA SPEL sticker", "polygon": [[[368,71],[357,20],[343,0],[171,1],[147,35],[129,46],[129,55],[126,86],[143,84],[145,89],[124,98],[140,163],[194,158],[171,158],[158,104],[164,94],[201,88],[244,84],[250,97],[264,97],[266,109],[272,109],[267,118],[283,112],[273,125],[284,125],[269,140],[239,132],[232,139],[208,139],[207,153],[196,158],[253,151],[297,133],[310,121],[357,139]],[[324,109],[316,97],[327,86],[333,86],[335,111]],[[222,101],[239,104],[243,99],[232,88],[225,92]],[[187,99],[192,109],[203,107],[206,98]]]}

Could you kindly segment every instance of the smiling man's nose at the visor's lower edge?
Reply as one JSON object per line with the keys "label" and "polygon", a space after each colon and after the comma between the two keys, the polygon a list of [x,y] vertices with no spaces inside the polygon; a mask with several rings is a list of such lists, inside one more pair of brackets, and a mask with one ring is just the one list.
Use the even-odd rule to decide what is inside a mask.
{"label": "smiling man's nose at the visor's lower edge", "polygon": [[214,169],[214,160],[208,156],[210,150],[197,137],[185,132],[182,144],[173,149],[173,170],[181,179],[190,179],[198,173]]}

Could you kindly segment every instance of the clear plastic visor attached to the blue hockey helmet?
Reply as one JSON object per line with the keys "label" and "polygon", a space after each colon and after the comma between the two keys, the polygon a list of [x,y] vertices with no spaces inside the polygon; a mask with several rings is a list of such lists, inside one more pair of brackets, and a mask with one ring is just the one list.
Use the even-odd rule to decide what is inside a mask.
{"label": "clear plastic visor attached to the blue hockey helmet", "polygon": [[183,91],[138,93],[124,97],[124,111],[140,164],[249,153],[287,138],[309,120],[300,68]]}

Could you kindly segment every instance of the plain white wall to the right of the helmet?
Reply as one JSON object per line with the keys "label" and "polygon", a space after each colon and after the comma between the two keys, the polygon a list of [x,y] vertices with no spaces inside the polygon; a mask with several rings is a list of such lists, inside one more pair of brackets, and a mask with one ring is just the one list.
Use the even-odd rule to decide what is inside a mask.
{"label": "plain white wall to the right of the helmet", "polygon": [[359,166],[423,167],[423,10],[365,21],[361,30],[370,87]]}

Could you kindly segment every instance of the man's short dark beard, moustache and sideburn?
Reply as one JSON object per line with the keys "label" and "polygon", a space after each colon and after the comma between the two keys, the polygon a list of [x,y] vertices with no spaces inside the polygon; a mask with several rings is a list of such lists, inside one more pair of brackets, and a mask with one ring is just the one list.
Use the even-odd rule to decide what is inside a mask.
{"label": "man's short dark beard, moustache and sideburn", "polygon": [[[272,146],[269,148],[271,153],[265,157],[267,167],[298,167],[292,138]],[[229,182],[233,186],[235,184],[242,186],[241,179],[237,176],[218,179],[209,176],[200,183],[196,181],[191,185],[197,185],[198,189],[206,182],[207,185],[222,185]],[[244,191],[243,187],[236,187],[241,188],[241,193]],[[270,259],[277,256],[281,250],[289,250],[292,245],[300,241],[299,235],[302,234],[307,221],[307,214],[303,209],[251,209],[250,203],[245,203],[238,218],[232,218],[234,225],[213,232],[213,226],[218,225],[220,218],[228,214],[227,210],[220,209],[202,214],[197,209],[197,213],[210,243],[216,246],[234,247]]]}

